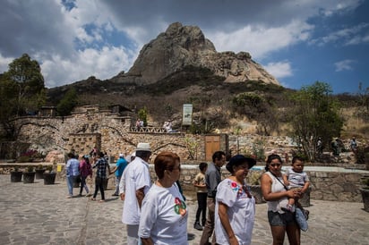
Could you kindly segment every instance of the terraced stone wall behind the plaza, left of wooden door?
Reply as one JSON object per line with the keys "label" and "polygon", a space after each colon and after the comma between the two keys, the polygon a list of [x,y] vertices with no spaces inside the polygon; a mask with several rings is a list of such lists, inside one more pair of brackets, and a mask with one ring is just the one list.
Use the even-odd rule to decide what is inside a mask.
{"label": "terraced stone wall behind the plaza, left of wooden door", "polygon": [[[159,151],[175,151],[181,159],[189,159],[188,142],[197,145],[198,160],[204,159],[204,139],[185,133],[131,131],[132,117],[100,110],[99,106],[80,106],[71,116],[29,116],[16,120],[18,139],[30,148],[48,153],[58,150],[64,155],[73,150],[86,155],[95,146],[116,159],[119,153],[129,155],[139,142],[150,142],[153,157]],[[18,155],[20,152],[18,152]]]}

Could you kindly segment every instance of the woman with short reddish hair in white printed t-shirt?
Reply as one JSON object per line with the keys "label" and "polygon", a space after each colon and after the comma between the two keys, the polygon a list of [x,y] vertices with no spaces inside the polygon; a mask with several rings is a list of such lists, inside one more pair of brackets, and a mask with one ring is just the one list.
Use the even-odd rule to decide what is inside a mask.
{"label": "woman with short reddish hair in white printed t-shirt", "polygon": [[139,236],[142,244],[178,244],[187,241],[187,207],[176,181],[181,165],[176,153],[161,152],[155,158],[155,182],[142,202]]}

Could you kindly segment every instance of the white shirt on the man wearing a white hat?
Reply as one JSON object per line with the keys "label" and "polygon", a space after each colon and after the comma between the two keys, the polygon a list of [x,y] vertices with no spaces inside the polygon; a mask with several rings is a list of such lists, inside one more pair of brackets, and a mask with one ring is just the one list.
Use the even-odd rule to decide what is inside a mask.
{"label": "white shirt on the man wearing a white hat", "polygon": [[[144,188],[144,193],[150,190],[151,179],[149,165],[136,156],[132,163],[124,169],[124,205],[122,214],[122,223],[124,224],[139,224],[141,210],[136,198],[136,190]],[[119,191],[121,192],[121,191]]]}

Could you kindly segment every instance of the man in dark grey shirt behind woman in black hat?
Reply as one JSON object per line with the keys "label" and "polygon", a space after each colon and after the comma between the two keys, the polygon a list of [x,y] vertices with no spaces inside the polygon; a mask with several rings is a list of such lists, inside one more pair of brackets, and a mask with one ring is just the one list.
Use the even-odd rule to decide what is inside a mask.
{"label": "man in dark grey shirt behind woman in black hat", "polygon": [[[214,212],[217,186],[221,181],[220,168],[226,163],[226,154],[223,151],[216,151],[212,155],[212,163],[208,166],[205,173],[205,183],[208,190],[208,218],[202,231],[200,245],[209,244],[209,238],[214,231]],[[215,234],[212,236],[211,244],[215,244]]]}

